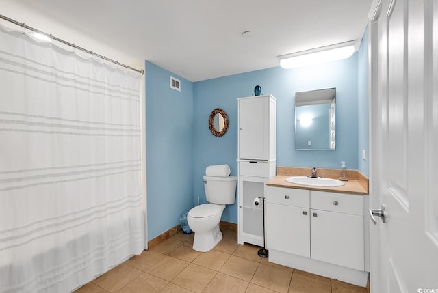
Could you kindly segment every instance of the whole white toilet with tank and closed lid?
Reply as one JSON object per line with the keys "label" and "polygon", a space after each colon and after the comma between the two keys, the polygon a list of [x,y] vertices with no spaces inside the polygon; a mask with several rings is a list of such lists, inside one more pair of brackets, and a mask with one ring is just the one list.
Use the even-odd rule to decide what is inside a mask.
{"label": "whole white toilet with tank and closed lid", "polygon": [[187,219],[194,232],[193,249],[206,252],[222,240],[220,217],[226,204],[234,204],[237,177],[203,176],[203,182],[209,204],[192,208]]}

